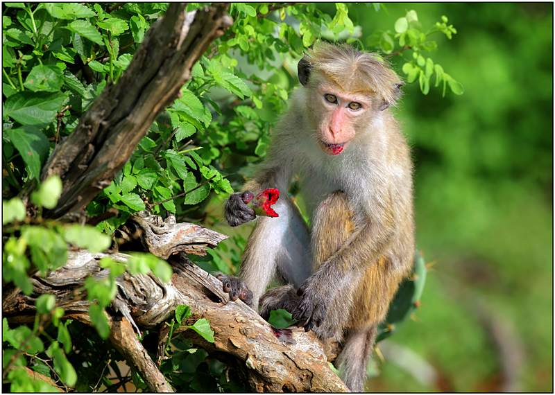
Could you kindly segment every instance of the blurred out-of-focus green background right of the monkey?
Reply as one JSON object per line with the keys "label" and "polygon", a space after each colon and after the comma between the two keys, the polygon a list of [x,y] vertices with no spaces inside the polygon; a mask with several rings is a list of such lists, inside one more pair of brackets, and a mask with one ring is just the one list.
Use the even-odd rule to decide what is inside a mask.
{"label": "blurred out-of-focus green background right of the monkey", "polygon": [[415,162],[418,249],[434,265],[415,319],[380,343],[368,389],[553,392],[552,3],[348,7],[364,43],[407,10],[425,28],[446,15],[458,34],[430,36],[439,51],[427,55],[465,87],[442,98],[415,82],[396,110]]}

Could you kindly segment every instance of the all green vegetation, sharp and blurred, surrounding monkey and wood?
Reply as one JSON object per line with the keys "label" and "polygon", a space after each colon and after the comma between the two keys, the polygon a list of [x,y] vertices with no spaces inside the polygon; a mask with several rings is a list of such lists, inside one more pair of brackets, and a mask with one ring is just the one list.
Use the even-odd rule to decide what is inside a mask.
{"label": "all green vegetation, sharp and blurred, surrounding monkey and wood", "polygon": [[[381,53],[407,81],[395,111],[413,148],[418,249],[436,263],[415,320],[388,340],[416,352],[414,369],[395,365],[393,347],[386,353],[384,346],[369,389],[552,392],[552,4],[232,3],[233,26],[195,64],[182,96],[112,184],[87,204],[89,216],[112,207],[119,215],[95,228],[42,220],[62,191],[55,177],[26,210],[18,193],[121,77],[167,6],[3,3],[3,283],[30,294],[30,273],[63,265],[68,244],[103,251],[145,201],[153,213],[230,235],[194,261],[236,272],[251,227],[223,224],[222,202],[266,155],[273,123],[298,85],[303,50],[317,39],[349,42]],[[62,322],[51,295],[37,300],[32,328],[3,320],[3,379],[12,392],[52,389],[28,380],[24,366],[78,392],[114,390],[117,381],[146,388],[135,371],[122,376],[103,309],[123,270],[153,270],[164,281],[171,270],[150,254],[102,265],[110,277],[85,284],[96,301],[89,311],[96,330]],[[171,332],[189,315],[180,306]],[[203,320],[191,328],[212,336]],[[148,351],[156,335],[144,332]],[[207,353],[182,337],[167,344],[167,355],[162,373],[180,392],[244,390],[233,370],[204,362]],[[516,371],[506,370],[506,356]],[[431,364],[434,380],[419,378],[418,364]]]}

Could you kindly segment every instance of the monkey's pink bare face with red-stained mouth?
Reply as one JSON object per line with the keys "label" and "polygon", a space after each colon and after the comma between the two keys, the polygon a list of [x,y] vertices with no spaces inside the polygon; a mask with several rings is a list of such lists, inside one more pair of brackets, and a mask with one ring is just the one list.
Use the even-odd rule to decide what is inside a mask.
{"label": "monkey's pink bare face with red-stained mouth", "polygon": [[313,105],[318,145],[327,155],[339,155],[348,147],[359,130],[364,130],[372,111],[370,99],[334,86],[316,90]]}

